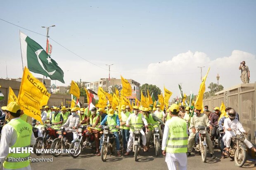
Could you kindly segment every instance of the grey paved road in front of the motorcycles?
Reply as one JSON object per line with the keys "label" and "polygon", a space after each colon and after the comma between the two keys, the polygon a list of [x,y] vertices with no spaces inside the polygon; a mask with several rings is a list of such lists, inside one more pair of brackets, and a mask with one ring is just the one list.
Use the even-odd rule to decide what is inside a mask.
{"label": "grey paved road in front of the motorcycles", "polygon": [[[155,157],[154,148],[150,148],[149,152],[140,152],[138,162],[134,161],[133,155],[129,156],[107,156],[106,162],[102,162],[101,158],[94,156],[92,149],[86,149],[78,158],[72,158],[69,154],[63,154],[57,158],[53,158],[53,162],[33,162],[31,167],[33,170],[166,170],[165,157]],[[215,150],[216,159],[207,158],[206,163],[201,161],[199,154],[194,154],[188,158],[188,170],[242,170],[235,166],[234,161],[230,158],[220,159],[220,151]],[[42,155],[51,158],[51,155]],[[42,156],[32,155],[34,158]],[[210,156],[210,155],[208,155]],[[247,160],[243,168],[256,170],[254,160]]]}

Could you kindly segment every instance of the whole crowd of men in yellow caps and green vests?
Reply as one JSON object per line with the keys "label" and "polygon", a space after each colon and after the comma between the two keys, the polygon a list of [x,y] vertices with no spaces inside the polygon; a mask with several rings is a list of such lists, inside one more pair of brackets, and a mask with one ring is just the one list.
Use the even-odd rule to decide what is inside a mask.
{"label": "whole crowd of men in yellow caps and green vests", "polygon": [[[30,168],[28,161],[15,164],[8,162],[6,158],[14,155],[8,153],[9,147],[26,147],[35,144],[31,125],[35,124],[40,133],[40,122],[24,114],[16,102],[11,102],[7,107],[2,107],[1,109],[2,116],[0,116],[0,121],[5,122],[6,125],[1,130],[0,162],[1,164],[3,163],[6,169]],[[154,108],[138,106],[130,108],[128,105],[112,108],[110,104],[106,108],[44,106],[40,109],[42,122],[52,124],[52,128],[55,130],[59,130],[61,126],[78,129],[80,125],[90,125],[95,137],[96,156],[101,155],[102,126],[112,127],[111,132],[113,132],[116,140],[116,156],[121,156],[119,130],[123,139],[123,155],[127,156],[130,154],[133,145],[134,127],[145,127],[140,130],[144,152],[147,152],[150,147],[149,140],[153,127],[159,127],[162,129],[159,130],[159,135],[160,140],[162,140],[163,155],[166,155],[166,163],[169,169],[175,169],[176,162],[178,162],[180,169],[186,169],[187,157],[191,156],[193,146],[198,144],[198,126],[209,127],[210,129],[210,133],[206,132],[206,142],[213,159],[216,156],[214,155],[212,141],[218,139],[220,128],[223,128],[225,132],[223,138],[219,139],[221,140],[221,158],[228,156],[231,138],[235,135],[231,130],[235,129],[237,133],[246,133],[239,122],[238,113],[230,107],[225,109],[226,116],[221,118],[219,107],[215,107],[211,112],[208,106],[205,106],[202,112],[199,107],[185,107],[177,104],[171,105],[166,110],[161,110],[160,105],[156,105]],[[28,130],[19,130],[24,127]],[[67,134],[67,137],[70,142],[73,140],[72,133]],[[248,148],[256,151],[256,148],[248,140],[244,140],[244,143]],[[22,156],[27,157],[26,155]]]}

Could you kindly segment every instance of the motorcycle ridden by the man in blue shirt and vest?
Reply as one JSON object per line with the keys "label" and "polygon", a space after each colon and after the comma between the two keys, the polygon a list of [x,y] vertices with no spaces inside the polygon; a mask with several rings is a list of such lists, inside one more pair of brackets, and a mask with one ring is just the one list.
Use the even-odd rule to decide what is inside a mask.
{"label": "motorcycle ridden by the man in blue shirt and vest", "polygon": [[102,161],[106,161],[107,153],[110,150],[111,153],[114,153],[114,150],[116,148],[116,142],[115,137],[113,135],[113,132],[109,128],[113,128],[114,126],[103,126],[103,139],[100,149],[100,156]]}

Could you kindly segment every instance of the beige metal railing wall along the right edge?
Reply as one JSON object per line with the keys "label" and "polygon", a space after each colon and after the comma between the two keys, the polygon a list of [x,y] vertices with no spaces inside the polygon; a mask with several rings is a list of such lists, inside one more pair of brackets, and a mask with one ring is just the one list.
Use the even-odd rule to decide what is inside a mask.
{"label": "beige metal railing wall along the right edge", "polygon": [[204,99],[204,105],[213,110],[213,107],[220,107],[222,101],[225,107],[237,111],[239,121],[248,132],[247,140],[256,144],[256,83],[239,84],[219,91],[213,97]]}

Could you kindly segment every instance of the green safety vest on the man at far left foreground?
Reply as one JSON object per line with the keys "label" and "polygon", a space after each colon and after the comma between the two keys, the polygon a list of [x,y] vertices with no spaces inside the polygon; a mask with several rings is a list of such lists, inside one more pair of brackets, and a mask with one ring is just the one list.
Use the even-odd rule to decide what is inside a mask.
{"label": "green safety vest on the man at far left foreground", "polygon": [[[8,123],[8,125],[12,126],[14,130],[17,133],[17,140],[14,143],[14,145],[11,148],[15,147],[23,147],[27,148],[30,147],[30,141],[31,141],[31,135],[32,135],[32,126],[26,121],[22,119],[13,119]],[[19,169],[19,168],[24,168],[30,164],[28,161],[28,156],[30,156],[30,153],[23,153],[23,154],[17,154],[17,153],[9,153],[7,155],[7,158],[5,159],[5,162],[3,163],[3,167],[6,169]],[[24,158],[26,161],[18,161],[14,162],[12,159],[8,157],[13,157],[13,158]]]}

